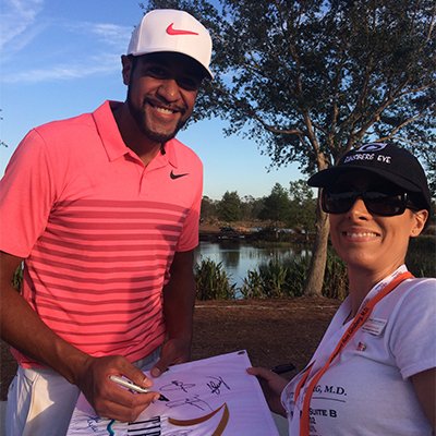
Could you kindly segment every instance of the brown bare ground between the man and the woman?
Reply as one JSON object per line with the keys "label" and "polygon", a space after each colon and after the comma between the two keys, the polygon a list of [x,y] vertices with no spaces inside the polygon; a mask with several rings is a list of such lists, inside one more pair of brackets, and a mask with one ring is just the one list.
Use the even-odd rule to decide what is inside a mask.
{"label": "brown bare ground between the man and the woman", "polygon": [[[340,302],[327,299],[197,302],[192,359],[246,350],[252,364],[274,367],[292,362],[304,368]],[[1,342],[0,400],[16,371],[7,343]]]}

